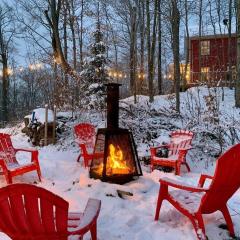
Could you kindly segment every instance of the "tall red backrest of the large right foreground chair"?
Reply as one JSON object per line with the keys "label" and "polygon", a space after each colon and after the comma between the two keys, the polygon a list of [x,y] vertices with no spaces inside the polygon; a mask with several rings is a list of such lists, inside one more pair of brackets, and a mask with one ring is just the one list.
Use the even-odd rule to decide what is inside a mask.
{"label": "tall red backrest of the large right foreground chair", "polygon": [[236,144],[217,160],[215,174],[209,191],[202,198],[203,213],[211,213],[226,205],[240,187],[240,144]]}

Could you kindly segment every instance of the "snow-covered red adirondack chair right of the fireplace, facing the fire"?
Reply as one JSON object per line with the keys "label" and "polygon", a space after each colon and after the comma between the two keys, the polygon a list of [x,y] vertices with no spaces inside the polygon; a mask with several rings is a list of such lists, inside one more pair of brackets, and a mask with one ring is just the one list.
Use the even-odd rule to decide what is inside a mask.
{"label": "snow-covered red adirondack chair right of the fireplace, facing the fire", "polygon": [[[193,133],[185,130],[177,130],[171,133],[171,140],[169,144],[151,147],[151,171],[154,167],[165,166],[175,168],[175,174],[180,175],[181,165],[185,165],[190,172],[190,167],[186,162],[186,155],[189,149],[191,149],[191,143],[193,139]],[[167,148],[168,157],[158,157],[158,149]]]}

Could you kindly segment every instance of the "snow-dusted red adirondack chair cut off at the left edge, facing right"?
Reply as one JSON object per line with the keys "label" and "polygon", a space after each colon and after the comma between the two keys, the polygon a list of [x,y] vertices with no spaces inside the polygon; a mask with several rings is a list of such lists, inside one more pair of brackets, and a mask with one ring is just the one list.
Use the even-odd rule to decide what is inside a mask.
{"label": "snow-dusted red adirondack chair cut off at the left edge, facing right", "polygon": [[[18,151],[30,152],[31,162],[19,164],[16,159]],[[12,145],[9,134],[0,133],[0,168],[8,184],[12,183],[12,178],[27,172],[37,171],[39,181],[41,181],[41,171],[38,162],[38,151],[32,149],[17,149]]]}

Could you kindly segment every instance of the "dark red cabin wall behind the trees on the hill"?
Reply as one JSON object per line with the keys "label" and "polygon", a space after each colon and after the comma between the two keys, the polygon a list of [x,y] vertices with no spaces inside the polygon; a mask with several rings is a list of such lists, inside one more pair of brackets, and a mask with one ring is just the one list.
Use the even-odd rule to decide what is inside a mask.
{"label": "dark red cabin wall behind the trees on the hill", "polygon": [[[200,55],[201,41],[210,41],[210,54]],[[237,38],[231,38],[231,66],[236,66],[237,62]],[[199,61],[201,58],[201,62]],[[200,66],[201,64],[201,66]],[[202,37],[201,39],[190,39],[190,69],[191,84],[198,83],[201,68],[209,67],[209,81],[226,82],[228,72],[228,37]]]}

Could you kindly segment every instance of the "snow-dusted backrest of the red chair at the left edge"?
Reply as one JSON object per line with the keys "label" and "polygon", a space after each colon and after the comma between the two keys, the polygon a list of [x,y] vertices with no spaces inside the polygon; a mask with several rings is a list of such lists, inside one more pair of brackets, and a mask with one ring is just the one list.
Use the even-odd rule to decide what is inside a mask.
{"label": "snow-dusted backrest of the red chair at the left edge", "polygon": [[0,159],[6,163],[16,163],[16,151],[9,134],[0,133]]}

